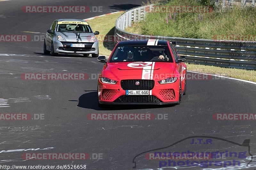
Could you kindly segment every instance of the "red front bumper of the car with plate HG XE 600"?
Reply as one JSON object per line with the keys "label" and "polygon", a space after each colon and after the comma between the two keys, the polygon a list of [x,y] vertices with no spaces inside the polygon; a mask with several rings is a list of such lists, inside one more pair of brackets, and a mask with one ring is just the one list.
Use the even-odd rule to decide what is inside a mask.
{"label": "red front bumper of the car with plate HG XE 600", "polygon": [[155,81],[153,89],[149,91],[150,95],[125,95],[120,82],[113,85],[98,80],[98,99],[101,104],[174,104],[179,102],[179,86],[178,80],[170,84]]}

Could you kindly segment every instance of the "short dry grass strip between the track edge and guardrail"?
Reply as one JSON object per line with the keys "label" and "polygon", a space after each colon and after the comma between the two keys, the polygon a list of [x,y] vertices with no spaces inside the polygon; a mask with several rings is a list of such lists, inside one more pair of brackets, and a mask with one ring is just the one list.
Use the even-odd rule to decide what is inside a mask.
{"label": "short dry grass strip between the track edge and guardrail", "polygon": [[[114,35],[115,22],[121,13],[106,15],[99,18],[88,20],[88,23],[92,27],[93,31],[100,31],[101,36]],[[137,29],[138,31],[138,29]],[[134,31],[134,33],[137,33]],[[114,48],[114,42],[99,42],[100,54],[110,55]],[[217,74],[226,77],[239,78],[256,82],[256,71],[255,70],[244,70],[244,69],[232,69],[222,68],[216,66],[187,64],[187,69],[191,71],[198,71],[203,73]]]}

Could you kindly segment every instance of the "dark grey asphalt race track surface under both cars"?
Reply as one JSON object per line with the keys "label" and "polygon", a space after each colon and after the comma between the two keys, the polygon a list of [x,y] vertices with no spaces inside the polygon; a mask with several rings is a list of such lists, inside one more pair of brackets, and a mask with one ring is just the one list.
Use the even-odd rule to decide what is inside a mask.
{"label": "dark grey asphalt race track surface under both cars", "polygon": [[[0,34],[43,35],[55,18],[84,19],[141,4],[139,0],[0,1]],[[39,5],[103,6],[103,11],[21,11],[22,6]],[[43,55],[43,41],[0,42],[0,64],[0,113],[44,114],[44,120],[0,121],[0,165],[86,165],[87,169],[95,170],[128,170],[134,166],[132,161],[136,155],[193,136],[219,137],[239,144],[250,139],[250,152],[256,155],[255,121],[217,121],[212,118],[215,113],[256,113],[256,85],[225,78],[188,80],[187,95],[182,97],[180,105],[100,109],[94,76],[101,71],[103,63],[97,62],[97,58]],[[23,80],[22,73],[85,73],[89,79]],[[168,120],[88,120],[87,115],[93,113],[168,114]],[[239,146],[230,146],[228,142],[221,144],[234,152],[239,150]],[[189,147],[178,144],[175,150]],[[209,150],[218,147],[218,144],[207,146]],[[89,153],[90,156],[102,153],[102,159],[25,160],[22,159],[24,153]],[[136,168],[157,167],[150,162],[140,164],[137,161]]]}

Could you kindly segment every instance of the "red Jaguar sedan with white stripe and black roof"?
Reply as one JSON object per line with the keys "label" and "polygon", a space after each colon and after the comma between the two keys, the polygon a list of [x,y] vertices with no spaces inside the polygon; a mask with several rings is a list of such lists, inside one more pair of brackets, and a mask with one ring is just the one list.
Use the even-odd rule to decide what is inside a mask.
{"label": "red Jaguar sedan with white stripe and black roof", "polygon": [[185,57],[172,43],[129,40],[116,44],[98,78],[98,104],[180,104],[186,94]]}

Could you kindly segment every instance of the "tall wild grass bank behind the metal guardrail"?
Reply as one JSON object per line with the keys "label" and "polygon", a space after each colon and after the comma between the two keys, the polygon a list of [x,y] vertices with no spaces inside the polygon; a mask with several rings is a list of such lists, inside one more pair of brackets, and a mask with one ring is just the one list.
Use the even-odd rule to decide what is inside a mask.
{"label": "tall wild grass bank behind the metal guardrail", "polygon": [[[198,0],[172,0],[165,5],[171,7],[203,6]],[[217,40],[229,40],[229,35],[235,35],[234,40],[242,36],[246,41],[256,41],[256,20],[253,18],[256,18],[256,8],[251,7],[244,9],[234,7],[222,12],[216,8],[211,12],[204,13],[160,13],[156,10],[153,13],[148,13],[145,21],[134,24],[127,31],[143,35]]]}

